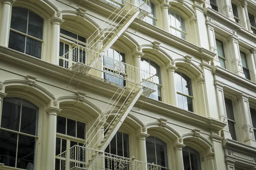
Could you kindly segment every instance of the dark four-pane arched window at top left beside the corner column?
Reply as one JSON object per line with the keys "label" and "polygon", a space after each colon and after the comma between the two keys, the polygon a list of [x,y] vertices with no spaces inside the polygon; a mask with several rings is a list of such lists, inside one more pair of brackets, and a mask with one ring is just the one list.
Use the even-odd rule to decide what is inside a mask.
{"label": "dark four-pane arched window at top left beside the corner column", "polygon": [[41,59],[44,20],[20,7],[12,8],[9,48]]}

